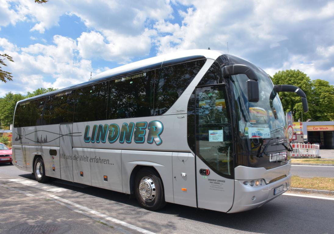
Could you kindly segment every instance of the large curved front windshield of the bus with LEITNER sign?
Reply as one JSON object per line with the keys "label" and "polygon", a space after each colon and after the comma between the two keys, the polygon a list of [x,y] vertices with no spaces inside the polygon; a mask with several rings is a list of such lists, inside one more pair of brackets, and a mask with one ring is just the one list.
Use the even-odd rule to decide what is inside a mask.
{"label": "large curved front windshield of the bus with LEITNER sign", "polygon": [[[249,151],[257,151],[264,139],[287,139],[285,115],[281,100],[273,90],[274,85],[264,72],[257,70],[255,73],[260,92],[258,102],[249,102],[247,99],[246,75],[231,76],[238,107],[239,136]],[[245,148],[245,145],[241,148]]]}

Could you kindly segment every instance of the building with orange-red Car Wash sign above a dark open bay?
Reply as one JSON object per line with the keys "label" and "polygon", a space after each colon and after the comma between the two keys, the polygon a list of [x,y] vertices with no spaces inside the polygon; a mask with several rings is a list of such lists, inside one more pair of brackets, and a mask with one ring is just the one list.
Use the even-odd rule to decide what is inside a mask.
{"label": "building with orange-red Car Wash sign above a dark open bay", "polygon": [[304,139],[319,144],[320,149],[334,149],[334,121],[303,122]]}

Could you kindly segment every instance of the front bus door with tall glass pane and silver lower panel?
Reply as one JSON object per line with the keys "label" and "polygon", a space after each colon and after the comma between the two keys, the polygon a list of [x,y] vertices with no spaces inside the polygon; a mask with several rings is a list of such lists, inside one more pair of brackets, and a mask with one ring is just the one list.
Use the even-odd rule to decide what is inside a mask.
{"label": "front bus door with tall glass pane and silver lower panel", "polygon": [[233,204],[232,128],[225,85],[196,87],[198,208],[227,212]]}

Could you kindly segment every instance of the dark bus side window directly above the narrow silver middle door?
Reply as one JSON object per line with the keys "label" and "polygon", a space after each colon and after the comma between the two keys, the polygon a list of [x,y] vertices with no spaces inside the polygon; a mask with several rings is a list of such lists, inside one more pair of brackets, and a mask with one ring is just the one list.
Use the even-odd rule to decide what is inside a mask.
{"label": "dark bus side window directly above the narrow silver middle door", "polygon": [[72,90],[51,96],[49,105],[49,124],[73,122],[74,94]]}

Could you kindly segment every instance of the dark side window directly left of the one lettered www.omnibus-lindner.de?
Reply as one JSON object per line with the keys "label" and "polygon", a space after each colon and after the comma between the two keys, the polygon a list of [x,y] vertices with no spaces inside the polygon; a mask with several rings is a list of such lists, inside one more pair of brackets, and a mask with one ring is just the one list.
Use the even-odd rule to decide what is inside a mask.
{"label": "dark side window directly left of the one lettered www.omnibus-lindner.de", "polygon": [[75,90],[74,122],[106,119],[108,84],[107,81]]}

